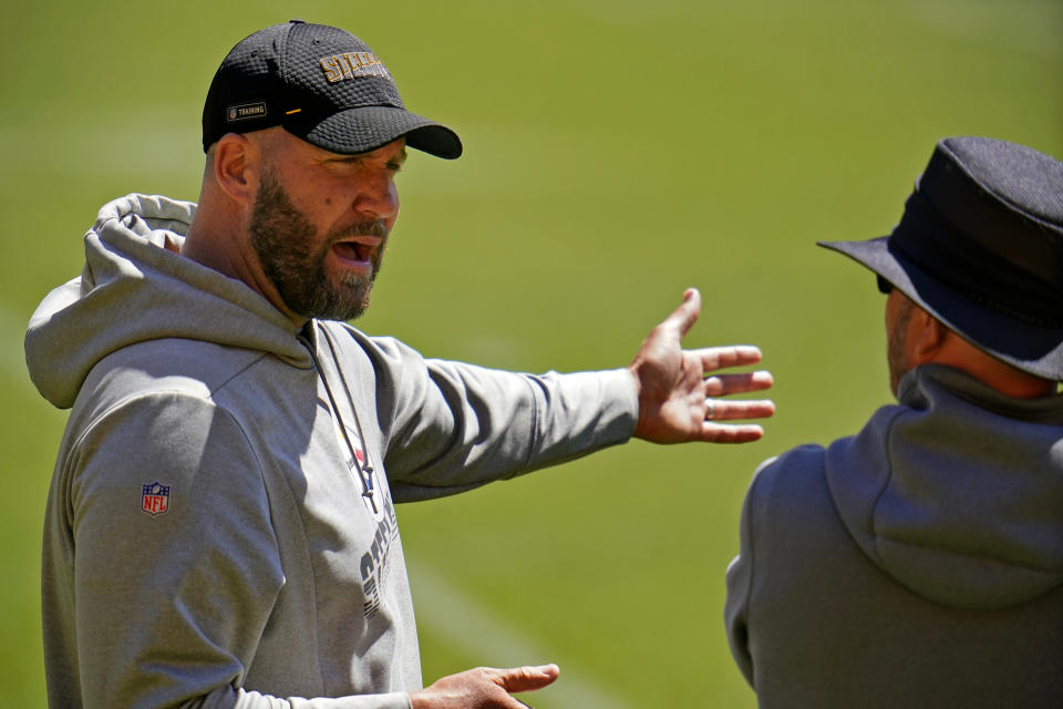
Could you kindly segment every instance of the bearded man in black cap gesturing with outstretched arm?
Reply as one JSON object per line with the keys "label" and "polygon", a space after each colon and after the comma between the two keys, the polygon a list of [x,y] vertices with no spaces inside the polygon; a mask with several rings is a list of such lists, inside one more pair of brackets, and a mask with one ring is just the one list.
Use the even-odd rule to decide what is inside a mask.
{"label": "bearded man in black cap gesturing with outstretched arm", "polygon": [[520,706],[558,668],[422,689],[394,503],[637,435],[756,440],[753,347],[684,351],[696,291],[630,367],[540,377],[429,360],[342,320],[367,306],[406,147],[454,158],[358,38],[241,41],[204,109],[198,205],[130,195],[34,314],[27,362],[72,408],[44,526],[55,707]]}

